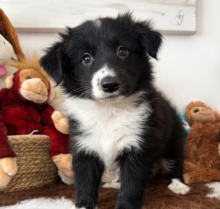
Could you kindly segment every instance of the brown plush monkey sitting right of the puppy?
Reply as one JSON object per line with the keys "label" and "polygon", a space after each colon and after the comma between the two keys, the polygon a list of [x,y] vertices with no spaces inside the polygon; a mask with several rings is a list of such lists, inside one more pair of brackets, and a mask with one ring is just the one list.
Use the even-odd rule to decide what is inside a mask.
{"label": "brown plush monkey sitting right of the puppy", "polygon": [[191,126],[185,146],[185,183],[219,181],[219,114],[197,101],[188,104],[185,118]]}

